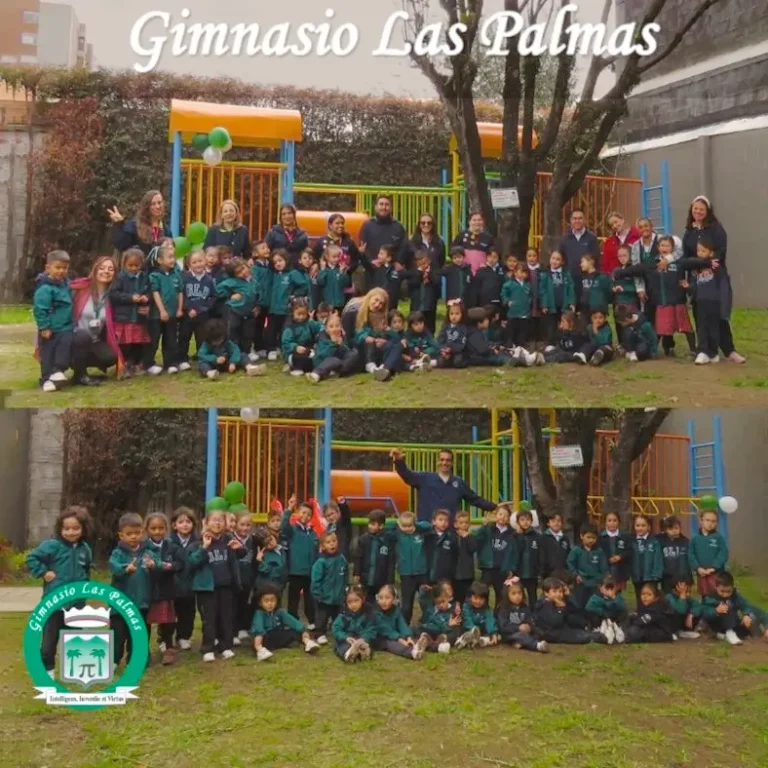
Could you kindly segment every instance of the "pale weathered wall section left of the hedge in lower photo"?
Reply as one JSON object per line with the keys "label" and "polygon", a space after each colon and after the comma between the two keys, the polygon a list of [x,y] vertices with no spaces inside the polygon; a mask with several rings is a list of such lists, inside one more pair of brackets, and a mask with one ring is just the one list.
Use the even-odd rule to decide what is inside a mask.
{"label": "pale weathered wall section left of the hedge in lower photo", "polygon": [[29,441],[27,545],[48,538],[64,495],[63,411],[33,411]]}

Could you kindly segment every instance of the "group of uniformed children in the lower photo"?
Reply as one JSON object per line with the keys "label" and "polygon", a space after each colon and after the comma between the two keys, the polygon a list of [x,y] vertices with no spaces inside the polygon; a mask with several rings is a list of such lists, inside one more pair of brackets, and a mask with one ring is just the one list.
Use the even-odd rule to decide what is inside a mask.
{"label": "group of uniformed children in the lower photo", "polygon": [[[427,651],[500,643],[547,652],[551,643],[674,642],[704,629],[733,645],[748,635],[768,638],[768,616],[738,593],[725,570],[728,551],[715,512],[701,514],[690,540],[675,517],[656,536],[644,515],[634,517],[629,534],[609,513],[602,532],[584,525],[575,545],[559,514],[540,533],[530,511],[516,512],[514,526],[510,512],[501,504],[471,529],[465,511],[436,510],[431,522],[421,522],[411,512],[388,520],[376,510],[354,556],[344,499],[325,505],[320,535],[312,504],[295,498],[258,530],[250,512],[211,511],[200,531],[186,507],[170,523],[161,513],[126,513],[109,570],[150,634],[156,625],[163,664],[174,663],[177,648],[191,648],[196,612],[205,662],[217,653],[230,659],[245,642],[259,661],[291,645],[315,653],[332,644],[353,662],[375,650],[418,660]],[[44,592],[88,580],[89,528],[86,510],[68,508],[54,537],[29,553],[28,569],[43,579]],[[701,600],[692,595],[694,575]],[[637,600],[631,612],[622,596],[630,581]],[[417,600],[420,616],[412,624]],[[62,625],[59,611],[43,633],[51,674]],[[119,664],[130,657],[131,641],[122,619],[113,627]]]}

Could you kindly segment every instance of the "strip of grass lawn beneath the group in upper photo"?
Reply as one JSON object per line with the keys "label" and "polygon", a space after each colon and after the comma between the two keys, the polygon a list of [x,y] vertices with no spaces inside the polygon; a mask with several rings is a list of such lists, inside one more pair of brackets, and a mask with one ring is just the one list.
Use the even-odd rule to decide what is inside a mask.
{"label": "strip of grass lawn beneath the group in upper photo", "polygon": [[405,374],[382,384],[368,375],[313,385],[271,363],[261,378],[224,376],[216,382],[194,371],[174,378],[110,380],[101,387],[65,388],[43,394],[32,358],[34,327],[0,327],[0,389],[13,390],[10,407],[755,407],[768,405],[768,310],[736,310],[733,332],[744,366],[723,362],[694,367],[678,338],[678,357],[642,364],[614,361],[602,368],[547,365],[537,368],[471,368]]}

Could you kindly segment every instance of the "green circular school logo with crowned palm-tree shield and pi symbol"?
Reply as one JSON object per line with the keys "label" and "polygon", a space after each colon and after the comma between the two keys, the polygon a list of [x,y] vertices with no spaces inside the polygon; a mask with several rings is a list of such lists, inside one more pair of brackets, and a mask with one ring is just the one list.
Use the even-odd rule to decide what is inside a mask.
{"label": "green circular school logo with crowned palm-tree shield and pi symbol", "polygon": [[[108,607],[85,605],[67,610],[72,603],[87,600],[106,603]],[[54,677],[43,663],[41,641],[46,625],[59,611],[63,612],[64,626],[56,638],[59,670]],[[130,661],[117,679],[111,614],[122,617],[131,642]],[[99,581],[64,584],[43,595],[24,630],[24,661],[39,691],[35,698],[52,705],[101,709],[136,699],[132,691],[144,674],[148,654],[149,636],[138,606],[120,590]],[[103,684],[106,687],[98,692],[87,690]]]}

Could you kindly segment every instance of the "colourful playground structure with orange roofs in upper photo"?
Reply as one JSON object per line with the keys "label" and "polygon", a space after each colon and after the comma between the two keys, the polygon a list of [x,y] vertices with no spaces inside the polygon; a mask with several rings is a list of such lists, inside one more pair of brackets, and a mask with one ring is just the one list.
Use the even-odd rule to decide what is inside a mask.
{"label": "colourful playground structure with orange roofs in upper photo", "polygon": [[[234,147],[279,149],[277,161],[233,160],[211,168],[202,160],[182,158],[184,143],[189,143],[194,134],[207,133],[218,125],[230,131]],[[479,123],[478,131],[483,158],[498,160],[501,124]],[[533,139],[535,146],[535,135]],[[299,225],[306,228],[311,237],[325,234],[324,222],[331,213],[338,212],[347,217],[348,231],[357,238],[362,223],[374,210],[376,197],[381,194],[392,199],[393,216],[409,234],[417,230],[422,213],[435,217],[436,231],[446,242],[452,241],[467,225],[467,194],[453,136],[448,146],[450,169],[441,171],[442,185],[435,187],[296,182],[295,142],[302,140],[302,120],[300,113],[293,110],[173,100],[169,140],[173,144],[171,229],[174,236],[193,221],[213,222],[221,201],[229,198],[240,206],[243,223],[251,236],[262,238],[276,223],[280,204],[293,203],[297,194],[304,200],[319,195],[344,200],[344,210],[319,211],[310,204],[310,210],[298,211]],[[498,174],[488,171],[486,176],[491,186],[498,186]],[[531,213],[531,245],[540,245],[543,237],[544,199],[551,181],[551,174],[538,174]],[[668,179],[664,183],[668,183]],[[656,213],[658,208],[660,224],[669,227],[668,202],[666,208],[663,203],[658,204],[663,196],[660,189],[647,187],[641,179],[587,176],[579,192],[562,210],[563,231],[575,207],[585,211],[588,228],[600,237],[609,234],[606,217],[612,210],[621,211],[632,221],[641,214]],[[666,198],[668,201],[668,195]]]}

